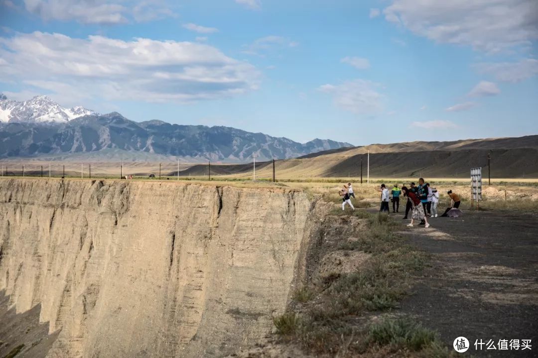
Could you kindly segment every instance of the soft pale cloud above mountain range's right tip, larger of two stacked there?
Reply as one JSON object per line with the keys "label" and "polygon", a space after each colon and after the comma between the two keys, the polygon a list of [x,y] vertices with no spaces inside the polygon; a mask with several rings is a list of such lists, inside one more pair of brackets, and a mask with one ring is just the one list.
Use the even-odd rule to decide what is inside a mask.
{"label": "soft pale cloud above mountain range's right tip, larger of two stacked there", "polygon": [[356,114],[373,114],[383,111],[383,94],[377,92],[378,84],[355,79],[339,85],[325,84],[318,90],[332,94],[334,104]]}

